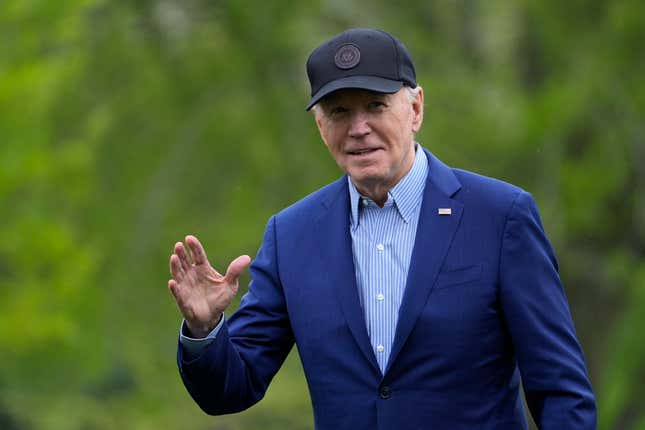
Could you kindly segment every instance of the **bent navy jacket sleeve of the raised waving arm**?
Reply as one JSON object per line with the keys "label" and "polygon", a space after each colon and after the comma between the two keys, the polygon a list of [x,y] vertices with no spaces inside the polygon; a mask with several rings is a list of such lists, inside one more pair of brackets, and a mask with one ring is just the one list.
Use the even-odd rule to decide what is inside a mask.
{"label": "bent navy jacket sleeve of the raised waving arm", "polygon": [[178,346],[184,385],[208,414],[239,412],[258,402],[293,346],[275,240],[271,218],[251,264],[249,290],[213,342],[190,359]]}

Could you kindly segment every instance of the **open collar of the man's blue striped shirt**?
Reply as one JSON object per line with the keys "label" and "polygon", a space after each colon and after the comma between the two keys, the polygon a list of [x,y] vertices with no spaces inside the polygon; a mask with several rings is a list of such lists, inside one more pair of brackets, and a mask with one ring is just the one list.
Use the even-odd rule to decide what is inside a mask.
{"label": "open collar of the man's blue striped shirt", "polygon": [[[416,155],[412,168],[406,175],[388,191],[385,205],[394,203],[397,211],[405,223],[410,222],[415,209],[421,202],[423,190],[425,188],[426,177],[428,176],[428,157],[421,145],[415,144]],[[369,204],[375,204],[367,197],[362,196],[356,186],[348,176],[349,198],[351,209],[351,226],[358,227],[359,224],[359,206],[361,201],[367,200]]]}

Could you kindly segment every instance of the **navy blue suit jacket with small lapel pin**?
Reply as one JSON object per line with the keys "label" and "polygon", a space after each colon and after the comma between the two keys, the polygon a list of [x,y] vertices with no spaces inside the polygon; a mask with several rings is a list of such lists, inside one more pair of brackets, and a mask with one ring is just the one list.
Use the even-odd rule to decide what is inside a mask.
{"label": "navy blue suit jacket with small lapel pin", "polygon": [[[317,429],[595,429],[596,406],[532,197],[429,152],[407,285],[381,373],[359,304],[347,178],[269,220],[240,308],[178,364],[210,414],[260,400],[294,342]],[[450,215],[439,215],[450,208]]]}

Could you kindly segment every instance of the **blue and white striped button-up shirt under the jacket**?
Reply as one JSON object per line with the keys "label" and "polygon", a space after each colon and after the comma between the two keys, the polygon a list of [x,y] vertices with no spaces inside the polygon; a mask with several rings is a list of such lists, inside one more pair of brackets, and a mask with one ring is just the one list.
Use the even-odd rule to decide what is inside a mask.
{"label": "blue and white striped button-up shirt under the jacket", "polygon": [[428,159],[416,145],[410,171],[383,207],[360,195],[349,180],[350,232],[356,283],[374,355],[385,372],[408,277]]}

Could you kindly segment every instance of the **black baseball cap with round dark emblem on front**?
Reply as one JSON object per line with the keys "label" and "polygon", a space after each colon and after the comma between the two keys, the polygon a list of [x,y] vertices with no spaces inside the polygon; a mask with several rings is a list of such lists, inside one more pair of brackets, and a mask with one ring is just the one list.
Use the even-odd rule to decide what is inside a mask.
{"label": "black baseball cap with round dark emblem on front", "polygon": [[381,30],[352,28],[324,42],[309,56],[311,109],[323,97],[343,88],[395,93],[415,88],[416,73],[405,45]]}

